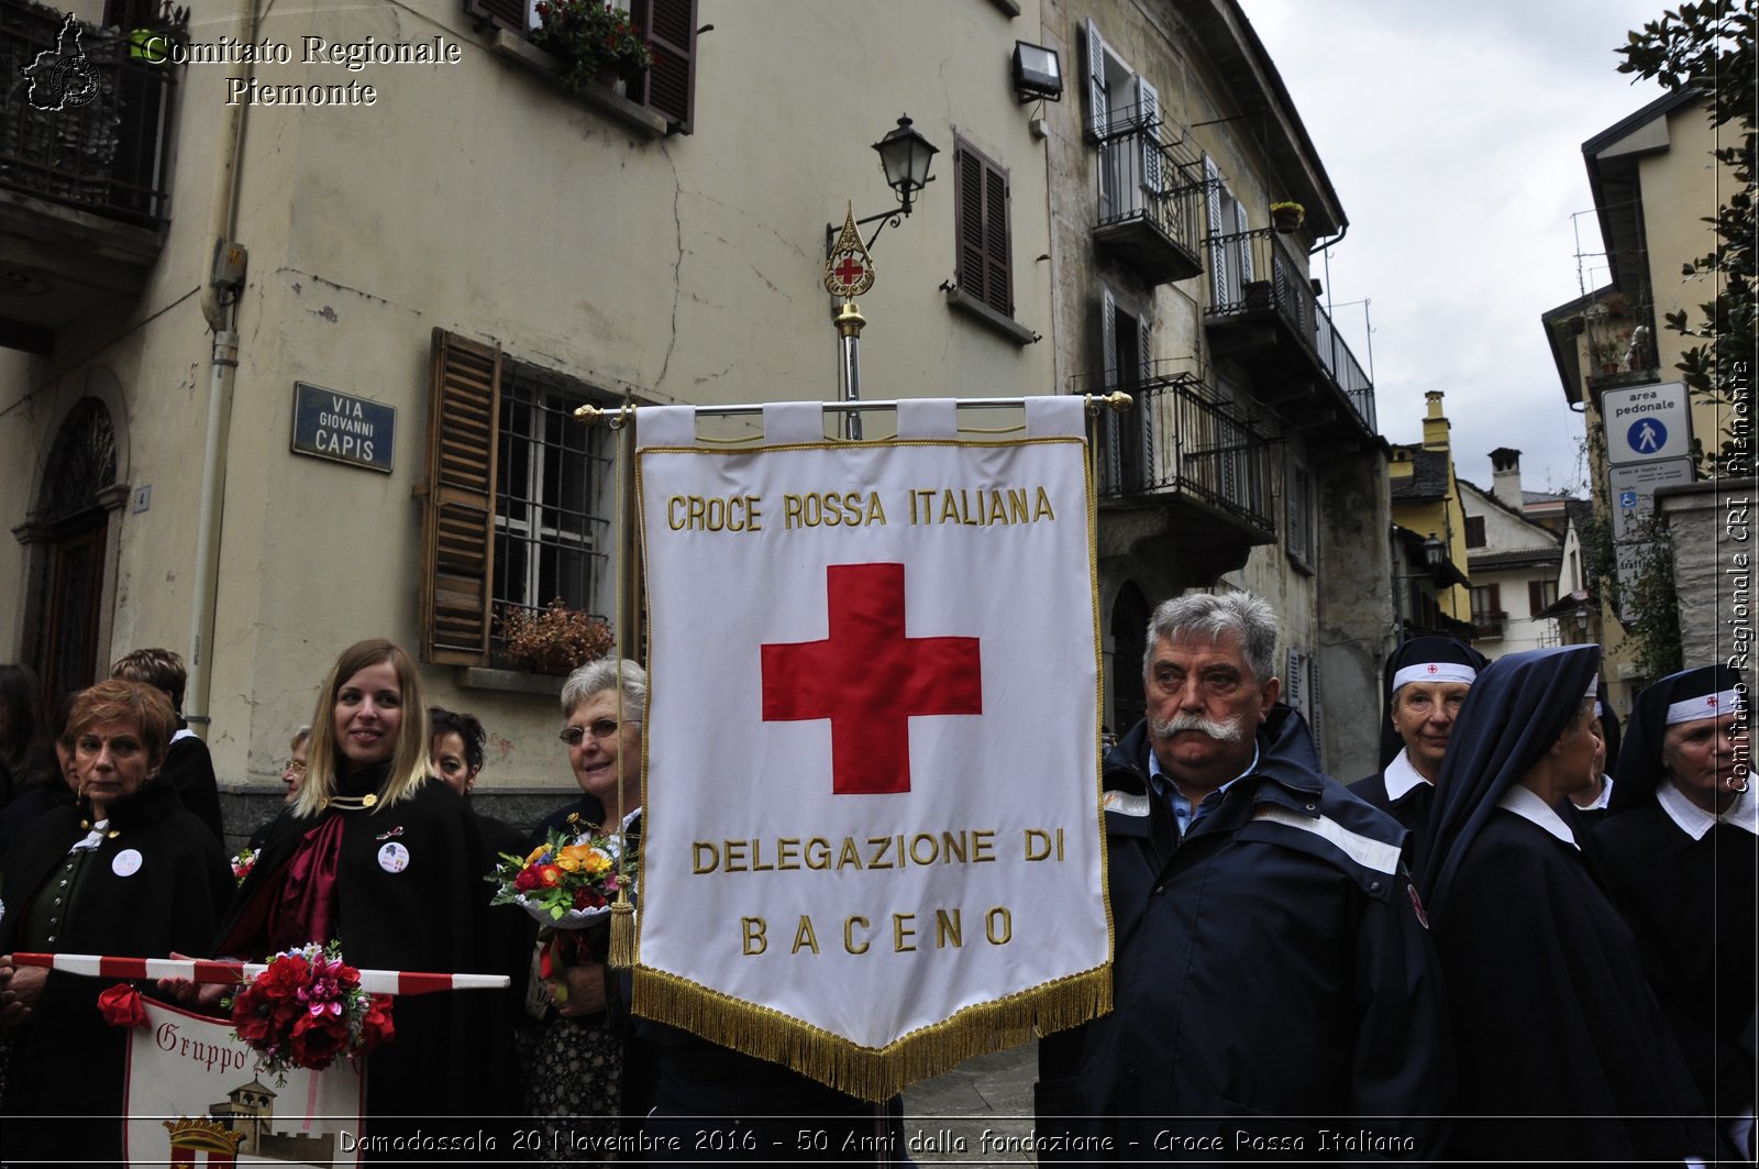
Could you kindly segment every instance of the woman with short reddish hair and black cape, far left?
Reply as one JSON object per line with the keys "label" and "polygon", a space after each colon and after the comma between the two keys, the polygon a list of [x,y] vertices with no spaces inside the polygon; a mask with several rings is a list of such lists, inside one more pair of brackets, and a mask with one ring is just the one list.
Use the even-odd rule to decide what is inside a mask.
{"label": "woman with short reddish hair and black cape, far left", "polygon": [[79,798],[33,820],[5,859],[0,1026],[11,1033],[9,1164],[121,1158],[128,1028],[99,995],[114,979],[18,967],[14,951],[162,958],[199,951],[232,893],[220,842],[158,771],[176,715],[153,687],[100,681],[72,706]]}

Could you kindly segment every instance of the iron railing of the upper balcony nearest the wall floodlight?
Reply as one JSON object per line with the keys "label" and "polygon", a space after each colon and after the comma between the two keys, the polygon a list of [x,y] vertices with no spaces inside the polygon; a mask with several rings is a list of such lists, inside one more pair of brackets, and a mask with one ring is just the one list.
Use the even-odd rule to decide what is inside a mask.
{"label": "iron railing of the upper balcony nearest the wall floodlight", "polygon": [[1142,222],[1201,257],[1203,171],[1157,118],[1115,118],[1099,136],[1098,227]]}

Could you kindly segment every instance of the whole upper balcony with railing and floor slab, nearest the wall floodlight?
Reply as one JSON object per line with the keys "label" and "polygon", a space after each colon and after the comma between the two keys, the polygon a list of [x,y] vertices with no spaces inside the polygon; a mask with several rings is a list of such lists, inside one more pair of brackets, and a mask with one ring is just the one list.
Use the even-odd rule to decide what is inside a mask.
{"label": "whole upper balcony with railing and floor slab, nearest the wall floodlight", "polygon": [[1115,118],[1098,141],[1094,245],[1147,283],[1203,271],[1203,171],[1159,120]]}

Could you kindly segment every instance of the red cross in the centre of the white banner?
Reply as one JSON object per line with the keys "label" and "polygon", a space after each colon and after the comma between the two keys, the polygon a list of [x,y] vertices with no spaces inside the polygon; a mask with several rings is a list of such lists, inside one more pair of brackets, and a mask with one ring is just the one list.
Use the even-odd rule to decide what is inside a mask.
{"label": "red cross in the centre of the white banner", "polygon": [[904,565],[825,569],[830,636],[765,644],[763,722],[830,720],[832,790],[909,790],[909,718],[982,715],[976,637],[904,634]]}

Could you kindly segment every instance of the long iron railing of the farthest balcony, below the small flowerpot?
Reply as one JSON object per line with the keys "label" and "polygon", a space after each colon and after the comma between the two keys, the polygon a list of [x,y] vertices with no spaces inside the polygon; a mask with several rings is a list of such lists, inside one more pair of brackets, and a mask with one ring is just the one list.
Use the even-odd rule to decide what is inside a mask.
{"label": "long iron railing of the farthest balcony, below the small flowerpot", "polygon": [[1305,264],[1289,254],[1282,236],[1268,227],[1212,232],[1205,236],[1203,246],[1210,271],[1208,315],[1274,312],[1319,361],[1363,426],[1377,433],[1374,382],[1319,306]]}

